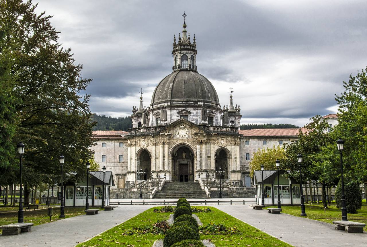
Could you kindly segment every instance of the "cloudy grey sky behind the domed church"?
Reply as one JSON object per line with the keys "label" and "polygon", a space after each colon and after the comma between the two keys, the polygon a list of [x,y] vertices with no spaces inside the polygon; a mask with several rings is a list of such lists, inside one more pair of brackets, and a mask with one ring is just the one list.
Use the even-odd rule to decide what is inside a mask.
{"label": "cloudy grey sky behind the domed church", "polygon": [[[34,1],[36,3],[37,1]],[[198,72],[221,104],[241,105],[241,123],[303,126],[337,111],[342,81],[367,64],[367,1],[50,1],[64,47],[92,78],[92,112],[128,116],[148,106],[172,72],[173,34],[195,33]]]}

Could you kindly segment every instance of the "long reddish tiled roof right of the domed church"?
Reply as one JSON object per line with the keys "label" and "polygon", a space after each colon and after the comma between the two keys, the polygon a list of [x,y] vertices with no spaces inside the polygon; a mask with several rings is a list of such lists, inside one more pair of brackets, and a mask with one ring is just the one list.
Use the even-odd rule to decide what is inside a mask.
{"label": "long reddish tiled roof right of the domed church", "polygon": [[308,132],[306,128],[287,128],[287,129],[252,129],[239,130],[239,134],[245,137],[297,137],[299,131]]}

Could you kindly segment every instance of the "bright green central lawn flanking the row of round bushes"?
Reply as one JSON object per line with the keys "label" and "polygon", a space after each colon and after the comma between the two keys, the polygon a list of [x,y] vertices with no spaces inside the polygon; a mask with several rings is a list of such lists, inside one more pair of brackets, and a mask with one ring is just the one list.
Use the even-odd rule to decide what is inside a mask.
{"label": "bright green central lawn flanking the row of round bushes", "polygon": [[[160,208],[160,207],[157,207]],[[207,207],[197,207],[207,208]],[[258,230],[214,207],[209,207],[211,213],[195,213],[199,216],[204,225],[210,222],[214,224],[223,224],[226,227],[236,226],[242,234],[235,235],[200,235],[201,239],[211,239],[217,247],[229,246],[291,246],[275,237],[272,237],[261,230]],[[171,213],[154,213],[154,208],[144,211],[143,213],[129,219],[121,225],[94,237],[93,239],[80,243],[77,247],[86,246],[135,246],[135,247],[151,247],[156,239],[163,239],[164,235],[145,233],[134,235],[123,235],[123,233],[131,228],[144,228],[150,226],[157,221],[168,219]]]}

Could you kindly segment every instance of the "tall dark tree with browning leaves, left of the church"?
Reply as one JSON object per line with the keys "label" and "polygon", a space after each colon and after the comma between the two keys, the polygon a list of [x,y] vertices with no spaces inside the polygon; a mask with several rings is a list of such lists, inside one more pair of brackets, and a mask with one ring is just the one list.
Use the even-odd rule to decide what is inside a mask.
{"label": "tall dark tree with browning leaves, left of the church", "polygon": [[[11,54],[11,64],[4,64],[3,71],[5,78],[14,81],[11,97],[17,100],[19,118],[11,148],[20,140],[26,145],[23,181],[27,189],[48,175],[59,176],[61,154],[66,159],[64,172],[81,174],[92,156],[89,146],[94,144],[95,125],[90,95],[80,96],[91,79],[81,77],[83,66],[75,64],[70,48],[59,44],[51,16],[37,15],[36,7],[31,1],[0,2],[4,36],[0,52],[4,57]],[[9,174],[16,176],[17,166],[17,162],[8,165]],[[27,193],[25,197],[27,203]]]}

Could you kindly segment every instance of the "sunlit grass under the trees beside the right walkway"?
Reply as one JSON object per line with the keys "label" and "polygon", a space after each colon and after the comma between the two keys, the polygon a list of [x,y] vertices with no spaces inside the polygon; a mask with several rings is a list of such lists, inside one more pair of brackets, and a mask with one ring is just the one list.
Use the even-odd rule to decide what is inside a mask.
{"label": "sunlit grass under the trees beside the right walkway", "polygon": [[[281,206],[282,213],[301,217],[301,206]],[[322,204],[305,205],[307,218],[332,223],[335,220],[341,220],[341,210],[335,205],[328,206],[326,213]],[[362,206],[357,214],[348,214],[348,220],[367,224],[367,206]],[[367,227],[364,228],[367,230]]]}

